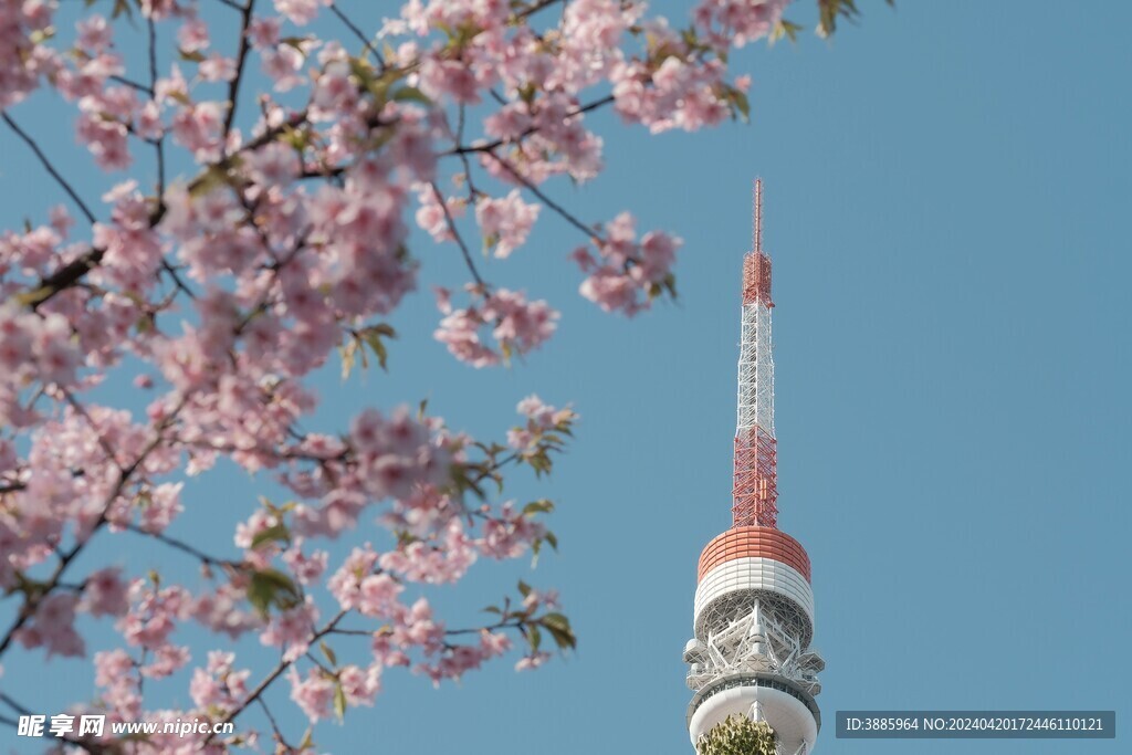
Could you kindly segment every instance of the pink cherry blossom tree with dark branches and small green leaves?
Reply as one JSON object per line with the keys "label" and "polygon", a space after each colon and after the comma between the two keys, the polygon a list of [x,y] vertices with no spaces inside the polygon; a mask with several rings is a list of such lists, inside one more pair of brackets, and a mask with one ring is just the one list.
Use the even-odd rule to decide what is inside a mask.
{"label": "pink cherry blossom tree with dark branches and small green leaves", "polygon": [[[65,739],[93,753],[303,750],[312,730],[276,723],[273,685],[314,726],[372,705],[397,667],[439,684],[574,647],[550,590],[520,583],[466,628],[426,590],[557,546],[552,504],[508,498],[505,475],[549,473],[574,412],[526,397],[491,440],[393,401],[312,430],[310,377],[334,359],[348,375],[387,366],[387,317],[424,286],[411,223],[466,266],[463,289],[435,289],[435,337],[474,368],[539,349],[559,314],[487,280],[471,234],[496,258],[534,254],[531,230],[554,213],[578,233],[557,254],[593,304],[634,316],[675,297],[679,239],[628,212],[583,222],[547,185],[601,171],[597,110],[650,134],[745,118],[749,77],[729,72],[728,51],[794,36],[787,1],[702,0],[670,25],[635,0],[409,0],[362,29],[332,0],[0,0],[0,119],[63,200],[0,232],[0,663],[91,658],[98,692],[60,701],[74,713],[231,722],[260,707],[271,722]],[[857,12],[818,7],[826,34]],[[97,203],[22,118],[52,94],[105,172]],[[149,392],[144,412],[92,397],[122,381]],[[288,500],[263,498],[216,542],[179,539],[178,515],[206,505],[186,482],[221,460]],[[77,568],[91,543],[130,538],[195,559],[207,586]],[[332,561],[332,542],[352,551]],[[117,642],[91,646],[88,620]],[[188,625],[211,646],[179,644]],[[243,635],[277,661],[251,668],[226,650]],[[192,707],[147,706],[145,680],[173,676]],[[11,726],[27,707],[7,681]]]}

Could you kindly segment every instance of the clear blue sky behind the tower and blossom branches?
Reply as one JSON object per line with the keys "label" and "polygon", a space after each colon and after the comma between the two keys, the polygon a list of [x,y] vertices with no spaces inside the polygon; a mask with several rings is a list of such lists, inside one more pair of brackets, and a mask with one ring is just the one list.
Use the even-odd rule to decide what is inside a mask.
{"label": "clear blue sky behind the tower and blossom branches", "polygon": [[[557,586],[577,653],[537,674],[495,664],[439,690],[392,671],[372,710],[318,730],[326,749],[692,752],[680,653],[700,550],[729,525],[739,271],[761,174],[779,521],[813,559],[815,645],[829,664],[817,752],[1127,752],[1126,735],[833,738],[834,712],[848,709],[1115,709],[1118,727],[1132,713],[1132,5],[860,5],[860,26],[832,43],[806,35],[736,55],[754,74],[752,125],[645,138],[599,115],[606,173],[549,187],[586,221],[629,208],[642,226],[679,233],[677,304],[626,321],[581,300],[565,258],[576,232],[543,212],[532,243],[483,271],[563,310],[546,349],[509,370],[458,364],[429,336],[437,314],[422,291],[393,319],[389,375],[345,388],[336,368],[320,376],[324,428],[362,404],[428,397],[454,427],[501,436],[532,392],[582,415],[554,478],[513,488],[559,501],[560,555],[533,573],[481,564],[438,599],[472,623],[518,576]],[[808,24],[813,11],[800,3],[794,16]],[[96,198],[108,183],[57,112],[14,114]],[[0,191],[2,228],[62,200],[8,131]],[[463,282],[455,249],[417,238],[414,252],[424,281]],[[104,396],[130,401],[113,391]],[[223,552],[212,527],[230,532],[264,490],[232,470],[194,481],[171,533],[224,538]],[[195,584],[175,554],[128,534],[112,546],[103,558]],[[110,636],[93,632],[92,645]],[[255,640],[241,653],[259,669],[272,658]],[[35,653],[5,667],[5,689],[41,712],[94,693],[84,663]],[[154,689],[188,702],[183,681]],[[269,700],[298,739],[285,687]],[[9,749],[37,747],[0,731]]]}

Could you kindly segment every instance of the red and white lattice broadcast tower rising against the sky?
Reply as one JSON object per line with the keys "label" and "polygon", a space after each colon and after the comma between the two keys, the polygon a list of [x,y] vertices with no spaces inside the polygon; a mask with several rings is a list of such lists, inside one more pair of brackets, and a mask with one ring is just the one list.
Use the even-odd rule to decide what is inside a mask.
{"label": "red and white lattice broadcast tower rising against the sky", "polygon": [[809,557],[778,529],[778,444],[771,355],[771,260],[763,251],[763,186],[755,181],[752,249],[743,260],[739,406],[735,434],[731,529],[700,555],[689,664],[693,745],[729,715],[766,721],[779,755],[814,749],[821,713],[809,646],[814,593]]}

